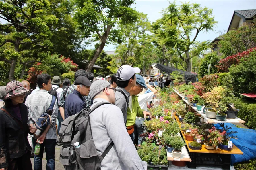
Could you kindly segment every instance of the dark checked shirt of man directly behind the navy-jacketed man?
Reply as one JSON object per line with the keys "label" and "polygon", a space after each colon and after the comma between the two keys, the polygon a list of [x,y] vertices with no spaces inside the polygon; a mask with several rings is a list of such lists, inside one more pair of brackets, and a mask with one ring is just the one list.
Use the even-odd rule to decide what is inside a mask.
{"label": "dark checked shirt of man directly behind the navy-jacketed man", "polygon": [[[67,89],[67,93],[65,95],[65,99],[67,99],[67,96],[69,94],[73,93],[74,90],[75,90],[75,85],[74,84],[69,86],[69,88]],[[59,98],[59,107],[65,107],[65,99],[63,97],[64,92],[65,92],[65,89],[61,92],[61,96]],[[88,96],[83,96],[83,100],[84,100],[84,103],[86,105],[86,109],[90,108],[90,106],[91,106],[90,94]]]}

